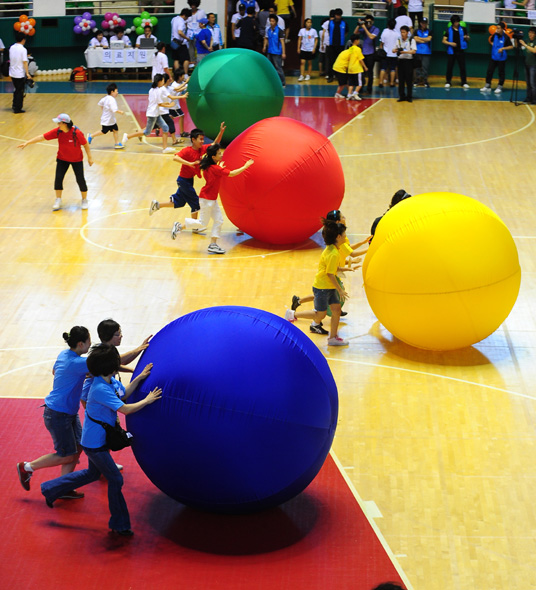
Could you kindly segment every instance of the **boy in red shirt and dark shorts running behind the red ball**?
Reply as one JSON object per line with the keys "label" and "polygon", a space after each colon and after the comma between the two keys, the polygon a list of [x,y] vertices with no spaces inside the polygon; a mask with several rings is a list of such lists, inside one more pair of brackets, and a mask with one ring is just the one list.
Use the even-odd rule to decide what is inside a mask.
{"label": "boy in red shirt and dark shorts running behind the red ball", "polygon": [[[223,133],[225,132],[225,123],[222,121],[220,124],[220,132],[214,140],[214,143],[220,143]],[[186,204],[190,206],[192,218],[197,219],[199,211],[199,197],[195,192],[194,188],[194,177],[199,176],[201,178],[201,170],[199,164],[201,158],[205,155],[208,145],[205,145],[205,133],[202,129],[192,129],[190,132],[190,138],[192,145],[183,148],[180,152],[175,154],[173,158],[174,162],[181,164],[179,176],[177,178],[177,191],[169,197],[169,203],[160,203],[158,201],[151,201],[149,206],[149,215],[152,215],[155,211],[158,211],[162,207],[173,207],[179,209],[184,207]],[[173,224],[171,230],[171,238],[174,240],[177,234],[181,231],[182,224],[176,221]],[[192,230],[194,233],[198,233],[197,229]]]}

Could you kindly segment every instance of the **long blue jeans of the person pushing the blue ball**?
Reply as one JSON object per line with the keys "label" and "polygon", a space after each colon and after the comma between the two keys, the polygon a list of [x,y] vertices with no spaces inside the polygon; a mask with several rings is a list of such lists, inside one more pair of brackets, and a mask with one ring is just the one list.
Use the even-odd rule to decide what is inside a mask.
{"label": "long blue jeans of the person pushing the blue ball", "polygon": [[121,491],[123,476],[117,469],[110,452],[106,447],[100,447],[99,449],[83,447],[83,449],[88,456],[88,468],[45,481],[41,484],[41,493],[47,500],[54,502],[71,490],[97,481],[102,473],[108,480],[108,506],[111,514],[108,526],[115,531],[129,529],[130,516]]}

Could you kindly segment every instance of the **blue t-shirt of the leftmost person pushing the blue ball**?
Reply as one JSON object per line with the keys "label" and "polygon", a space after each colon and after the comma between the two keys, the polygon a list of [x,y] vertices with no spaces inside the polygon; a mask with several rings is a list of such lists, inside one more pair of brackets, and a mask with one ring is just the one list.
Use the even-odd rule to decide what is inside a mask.
{"label": "blue t-shirt of the leftmost person pushing the blue ball", "polygon": [[70,348],[62,350],[54,363],[54,383],[52,391],[45,397],[45,404],[56,412],[77,414],[87,373],[85,358]]}

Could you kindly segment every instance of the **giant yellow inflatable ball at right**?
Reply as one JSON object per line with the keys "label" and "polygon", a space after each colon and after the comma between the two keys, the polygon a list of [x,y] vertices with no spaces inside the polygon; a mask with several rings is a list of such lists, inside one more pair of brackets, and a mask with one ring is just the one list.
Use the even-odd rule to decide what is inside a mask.
{"label": "giant yellow inflatable ball at right", "polygon": [[372,311],[394,336],[454,350],[504,322],[521,269],[512,235],[491,209],[464,195],[427,193],[384,215],[363,277]]}

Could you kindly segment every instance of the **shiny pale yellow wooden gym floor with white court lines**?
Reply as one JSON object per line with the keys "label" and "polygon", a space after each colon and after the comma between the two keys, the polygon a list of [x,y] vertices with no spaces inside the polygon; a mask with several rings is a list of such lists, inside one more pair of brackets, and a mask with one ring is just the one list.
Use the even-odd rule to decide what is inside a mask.
{"label": "shiny pale yellow wooden gym floor with white court lines", "polygon": [[[331,138],[346,176],[342,209],[358,240],[399,188],[479,199],[504,220],[518,247],[523,278],[510,317],[472,348],[419,351],[378,323],[358,272],[347,279],[351,299],[341,330],[350,346],[331,350],[324,337],[311,337],[339,387],[333,452],[410,587],[528,589],[536,588],[535,111],[470,92],[460,101],[384,98],[337,123]],[[281,250],[237,236],[226,221],[225,256],[211,257],[208,239],[189,232],[172,241],[171,225],[184,212],[148,216],[151,199],[174,191],[178,172],[155,138],[150,145],[132,140],[124,152],[114,152],[107,137],[96,139],[95,164],[86,167],[89,211],[80,210],[69,172],[64,209],[52,213],[56,143],[15,146],[51,129],[59,112],[70,113],[84,132],[96,131],[97,100],[32,95],[28,112],[14,116],[11,96],[0,95],[4,398],[48,393],[61,333],[72,325],[87,326],[97,340],[98,322],[113,317],[126,350],[195,309],[231,304],[283,314],[293,294],[310,292],[318,236]],[[290,100],[300,106],[300,98]],[[310,100],[325,101],[328,119],[346,108]],[[134,130],[132,117],[129,111],[119,120],[121,132]],[[308,333],[307,322],[297,326]],[[200,371],[217,353],[207,342]],[[42,428],[21,424],[29,432]]]}

